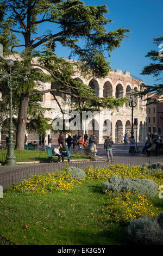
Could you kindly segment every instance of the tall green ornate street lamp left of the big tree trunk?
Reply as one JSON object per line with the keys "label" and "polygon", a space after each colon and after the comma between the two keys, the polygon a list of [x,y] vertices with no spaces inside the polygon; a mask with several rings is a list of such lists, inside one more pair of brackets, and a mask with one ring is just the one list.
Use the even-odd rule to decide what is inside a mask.
{"label": "tall green ornate street lamp left of the big tree trunk", "polygon": [[[1,80],[7,80],[8,83],[8,88],[10,90],[10,123],[9,123],[9,143],[8,143],[8,153],[7,153],[7,157],[6,157],[6,163],[8,166],[13,166],[16,164],[16,156],[14,154],[14,142],[13,142],[13,135],[14,135],[14,131],[13,131],[13,123],[12,123],[12,90],[14,88],[12,88],[12,66],[14,66],[14,60],[12,59],[8,59],[7,61],[7,65],[10,68],[10,73],[8,74],[3,74],[1,77]],[[23,74],[19,74],[19,75],[23,75]],[[17,78],[17,76],[16,76]],[[27,75],[25,75],[23,77],[24,81],[28,80]],[[16,81],[17,82],[17,81]]]}

